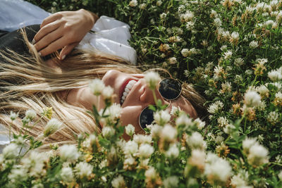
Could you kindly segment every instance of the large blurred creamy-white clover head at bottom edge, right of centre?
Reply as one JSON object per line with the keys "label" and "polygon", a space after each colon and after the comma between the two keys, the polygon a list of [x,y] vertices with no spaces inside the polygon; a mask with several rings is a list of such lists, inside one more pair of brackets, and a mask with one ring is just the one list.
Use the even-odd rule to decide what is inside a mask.
{"label": "large blurred creamy-white clover head at bottom edge, right of centre", "polygon": [[224,183],[231,176],[231,173],[231,165],[226,160],[219,158],[214,153],[207,154],[207,163],[204,168],[204,174],[207,175],[209,181],[219,181]]}

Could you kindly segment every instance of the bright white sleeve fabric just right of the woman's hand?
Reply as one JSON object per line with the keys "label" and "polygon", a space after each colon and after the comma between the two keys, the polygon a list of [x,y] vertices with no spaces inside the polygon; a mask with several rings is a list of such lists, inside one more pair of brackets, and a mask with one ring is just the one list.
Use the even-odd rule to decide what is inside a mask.
{"label": "bright white sleeve fabric just right of the woman's hand", "polygon": [[78,49],[93,49],[115,55],[136,64],[136,51],[128,40],[129,25],[102,15],[92,27],[94,33],[87,33],[78,45]]}

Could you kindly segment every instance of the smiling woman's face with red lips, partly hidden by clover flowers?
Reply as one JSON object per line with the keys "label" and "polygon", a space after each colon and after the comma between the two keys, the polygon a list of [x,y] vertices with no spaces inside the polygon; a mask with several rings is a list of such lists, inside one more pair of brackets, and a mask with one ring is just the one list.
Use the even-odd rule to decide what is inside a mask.
{"label": "smiling woman's face with red lips, partly hidden by clover flowers", "polygon": [[[133,82],[130,82],[134,80]],[[135,126],[135,132],[141,132],[142,128],[139,125],[139,115],[143,108],[154,104],[154,96],[152,90],[147,87],[147,84],[144,79],[144,75],[136,74],[129,75],[126,73],[121,73],[118,70],[109,70],[106,75],[102,78],[102,81],[106,86],[111,86],[114,89],[114,94],[116,98],[114,99],[116,104],[121,104],[121,123],[122,125],[132,124]],[[128,85],[128,83],[130,84]],[[132,84],[133,85],[132,85]],[[132,85],[130,89],[130,85]],[[128,95],[121,100],[125,88],[129,89]],[[156,90],[157,98],[161,99],[163,104],[169,104],[168,101],[165,101],[159,91]],[[123,103],[121,103],[123,101]],[[197,117],[197,113],[193,108],[192,104],[182,96],[178,99],[171,101],[171,106],[179,106],[181,110],[185,111],[192,118]],[[99,99],[99,108],[104,108],[104,101]]]}

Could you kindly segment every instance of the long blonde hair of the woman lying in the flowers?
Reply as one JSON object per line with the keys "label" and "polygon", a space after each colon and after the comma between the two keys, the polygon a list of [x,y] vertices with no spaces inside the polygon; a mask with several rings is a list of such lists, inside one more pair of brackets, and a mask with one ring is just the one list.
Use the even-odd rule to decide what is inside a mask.
{"label": "long blonde hair of the woman lying in the flowers", "polygon": [[[19,112],[19,117],[23,118],[26,110],[33,109],[37,112],[36,119],[39,119],[44,108],[52,107],[55,112],[53,118],[61,120],[64,126],[48,137],[46,143],[73,144],[75,135],[79,133],[101,131],[86,108],[66,103],[59,92],[85,87],[89,80],[102,78],[108,70],[142,73],[139,68],[129,65],[121,58],[91,50],[75,50],[64,61],[56,61],[57,68],[50,67],[27,41],[25,32],[23,37],[30,49],[30,56],[10,50],[0,52],[0,56],[6,61],[1,63],[0,68],[0,123],[6,127],[11,126],[13,132],[19,132],[22,123],[20,120],[12,121],[8,115],[10,111]],[[202,108],[204,99],[192,87],[186,85],[183,96],[196,110]],[[38,137],[48,121],[46,117],[40,119],[28,134]]]}

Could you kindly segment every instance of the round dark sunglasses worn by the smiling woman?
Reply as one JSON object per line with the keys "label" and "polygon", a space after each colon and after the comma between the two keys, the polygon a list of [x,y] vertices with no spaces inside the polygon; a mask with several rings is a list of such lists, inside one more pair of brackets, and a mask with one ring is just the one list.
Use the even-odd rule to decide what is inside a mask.
{"label": "round dark sunglasses worn by the smiling woman", "polygon": [[[165,78],[159,82],[159,93],[167,101],[178,99],[182,92],[182,85],[178,80],[171,77]],[[139,125],[144,130],[147,125],[151,125],[154,121],[154,111],[145,107],[139,115]]]}

